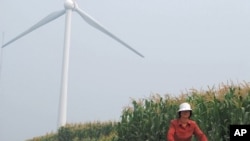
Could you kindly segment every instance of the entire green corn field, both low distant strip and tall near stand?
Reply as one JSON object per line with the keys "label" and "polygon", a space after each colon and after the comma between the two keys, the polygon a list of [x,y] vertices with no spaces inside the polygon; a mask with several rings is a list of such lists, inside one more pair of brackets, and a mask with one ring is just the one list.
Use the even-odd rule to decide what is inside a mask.
{"label": "entire green corn field, both low distant strip and tall near stand", "polygon": [[209,141],[229,141],[230,124],[250,124],[250,84],[231,83],[208,90],[191,89],[179,96],[152,94],[132,100],[118,122],[69,125],[30,141],[167,141],[170,120],[177,118],[182,102],[191,104],[191,119]]}

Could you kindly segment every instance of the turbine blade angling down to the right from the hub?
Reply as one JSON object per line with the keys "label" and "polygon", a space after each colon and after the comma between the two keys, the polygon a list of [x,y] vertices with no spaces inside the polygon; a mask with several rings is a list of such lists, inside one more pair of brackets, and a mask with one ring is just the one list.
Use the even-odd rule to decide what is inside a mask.
{"label": "turbine blade angling down to the right from the hub", "polygon": [[96,29],[102,31],[103,33],[107,34],[108,36],[110,36],[111,38],[113,38],[114,40],[118,41],[119,43],[121,43],[122,45],[124,45],[125,47],[127,47],[128,49],[130,49],[131,51],[133,51],[134,53],[136,53],[137,55],[144,57],[141,53],[139,53],[138,51],[136,51],[135,49],[133,49],[131,46],[129,46],[127,43],[125,43],[124,41],[122,41],[121,39],[119,39],[118,37],[116,37],[114,34],[112,34],[111,32],[109,32],[107,29],[105,29],[101,24],[99,24],[96,20],[94,20],[91,16],[89,16],[86,12],[84,12],[83,10],[81,10],[79,7],[75,7],[75,11],[80,14],[80,16],[91,26],[95,27]]}

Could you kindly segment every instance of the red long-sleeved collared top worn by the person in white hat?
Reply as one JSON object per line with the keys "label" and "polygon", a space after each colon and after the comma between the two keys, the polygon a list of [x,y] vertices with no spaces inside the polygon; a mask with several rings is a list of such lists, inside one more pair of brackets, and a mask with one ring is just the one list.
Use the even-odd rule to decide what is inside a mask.
{"label": "red long-sleeved collared top worn by the person in white hat", "polygon": [[207,141],[206,135],[201,131],[195,121],[189,120],[183,127],[178,119],[172,120],[167,132],[167,141],[191,141],[195,135],[199,141]]}

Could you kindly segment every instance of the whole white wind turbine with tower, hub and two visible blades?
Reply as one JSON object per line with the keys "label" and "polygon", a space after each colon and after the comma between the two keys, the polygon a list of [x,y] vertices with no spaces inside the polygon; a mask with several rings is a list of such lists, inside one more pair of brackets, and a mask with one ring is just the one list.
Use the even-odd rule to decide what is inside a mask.
{"label": "whole white wind turbine with tower, hub and two visible blades", "polygon": [[63,52],[63,68],[62,68],[62,78],[61,78],[61,93],[60,93],[60,104],[59,104],[59,115],[58,115],[58,127],[66,125],[66,117],[67,117],[67,89],[68,89],[68,68],[69,68],[69,49],[70,49],[70,33],[71,33],[71,15],[72,12],[77,12],[88,24],[93,26],[94,28],[102,31],[107,34],[114,40],[118,41],[129,50],[133,51],[140,57],[144,57],[141,53],[133,49],[127,43],[116,37],[114,34],[105,29],[101,24],[99,24],[95,19],[93,19],[90,15],[88,15],[85,11],[78,7],[78,4],[75,0],[65,0],[64,9],[60,11],[53,12],[40,20],[38,23],[22,32],[9,42],[5,43],[2,48],[7,45],[13,43],[17,39],[25,36],[26,34],[34,31],[35,29],[59,18],[60,16],[65,14],[65,33],[64,33],[64,52]]}

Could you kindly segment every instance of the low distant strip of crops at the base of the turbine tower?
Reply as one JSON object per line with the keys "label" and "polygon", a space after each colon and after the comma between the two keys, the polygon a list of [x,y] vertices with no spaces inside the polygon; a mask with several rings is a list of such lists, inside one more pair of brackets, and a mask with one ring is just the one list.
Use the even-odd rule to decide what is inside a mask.
{"label": "low distant strip of crops at the base of the turbine tower", "polygon": [[67,124],[57,133],[36,137],[29,141],[112,141],[116,138],[116,122]]}

